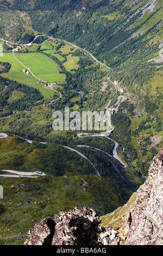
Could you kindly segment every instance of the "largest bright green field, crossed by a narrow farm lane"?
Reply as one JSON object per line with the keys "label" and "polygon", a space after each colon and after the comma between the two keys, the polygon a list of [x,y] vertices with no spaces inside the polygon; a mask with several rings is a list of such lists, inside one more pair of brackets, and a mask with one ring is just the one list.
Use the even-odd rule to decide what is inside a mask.
{"label": "largest bright green field, crossed by a narrow farm lane", "polygon": [[[15,56],[24,65],[29,67],[33,74],[41,80],[47,82],[53,82],[54,80],[65,81],[65,75],[59,74],[58,67],[45,55],[41,53],[15,53]],[[45,84],[38,84],[37,78],[32,75],[27,76],[24,74],[24,66],[13,57],[12,53],[3,53],[1,62],[8,62],[11,64],[10,71],[1,74],[1,76],[37,88],[45,98],[49,98],[54,94],[51,88],[45,87]]]}

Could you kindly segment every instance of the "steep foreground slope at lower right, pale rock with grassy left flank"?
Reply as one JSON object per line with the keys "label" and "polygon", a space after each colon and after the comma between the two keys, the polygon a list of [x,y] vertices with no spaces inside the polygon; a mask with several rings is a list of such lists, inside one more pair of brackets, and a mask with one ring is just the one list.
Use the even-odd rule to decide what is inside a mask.
{"label": "steep foreground slope at lower right, pale rock with grassy left flank", "polygon": [[113,225],[124,245],[162,245],[163,150],[153,159],[146,182],[129,202],[102,217],[102,227]]}

